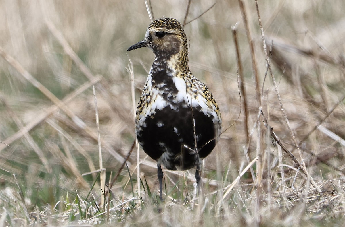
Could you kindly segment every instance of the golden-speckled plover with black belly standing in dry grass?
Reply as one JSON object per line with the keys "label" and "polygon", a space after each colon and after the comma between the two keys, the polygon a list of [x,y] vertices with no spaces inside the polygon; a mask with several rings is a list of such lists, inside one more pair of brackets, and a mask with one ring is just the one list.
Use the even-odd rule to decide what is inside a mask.
{"label": "golden-speckled plover with black belly standing in dry grass", "polygon": [[218,104],[208,87],[189,70],[187,36],[169,17],[151,22],[144,40],[127,51],[148,47],[155,54],[140,96],[135,133],[145,153],[157,162],[159,199],[161,165],[169,170],[196,167],[200,192],[201,159],[216,146],[221,131]]}

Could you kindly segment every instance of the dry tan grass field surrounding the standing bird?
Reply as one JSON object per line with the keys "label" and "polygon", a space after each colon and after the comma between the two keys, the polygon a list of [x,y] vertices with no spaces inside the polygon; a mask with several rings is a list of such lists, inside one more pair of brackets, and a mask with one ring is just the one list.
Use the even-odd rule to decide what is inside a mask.
{"label": "dry tan grass field surrounding the standing bird", "polygon": [[145,1],[0,1],[0,227],[342,225],[345,2],[258,1],[261,25],[254,0],[150,3],[187,23],[222,112],[204,198],[194,170],[164,170],[161,204],[156,163],[141,150],[137,166],[133,98],[154,55],[126,50]]}

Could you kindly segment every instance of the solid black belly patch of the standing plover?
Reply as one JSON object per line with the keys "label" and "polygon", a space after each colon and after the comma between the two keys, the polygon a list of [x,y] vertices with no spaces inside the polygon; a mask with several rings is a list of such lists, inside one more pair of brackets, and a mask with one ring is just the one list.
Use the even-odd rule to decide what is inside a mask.
{"label": "solid black belly patch of the standing plover", "polygon": [[[213,116],[210,117],[193,107],[195,131],[197,135],[197,150],[199,157],[206,157],[216,145],[215,125]],[[142,148],[156,161],[167,152],[165,167],[168,169],[190,169],[197,163],[195,150],[195,137],[193,130],[192,111],[190,108],[179,107],[172,110],[165,107],[154,115],[145,119],[146,127],[137,133]],[[212,140],[208,144],[208,141]],[[206,144],[206,145],[205,145]],[[184,145],[191,149],[185,148]],[[162,163],[164,164],[164,163]]]}

